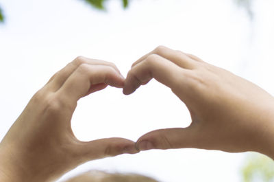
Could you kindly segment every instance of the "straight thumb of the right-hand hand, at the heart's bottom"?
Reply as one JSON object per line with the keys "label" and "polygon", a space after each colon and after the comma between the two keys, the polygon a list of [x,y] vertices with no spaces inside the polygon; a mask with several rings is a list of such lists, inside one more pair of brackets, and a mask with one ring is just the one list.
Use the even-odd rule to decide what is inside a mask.
{"label": "straight thumb of the right-hand hand, at the heart's bottom", "polygon": [[199,135],[194,128],[166,128],[142,135],[136,142],[138,150],[199,148]]}

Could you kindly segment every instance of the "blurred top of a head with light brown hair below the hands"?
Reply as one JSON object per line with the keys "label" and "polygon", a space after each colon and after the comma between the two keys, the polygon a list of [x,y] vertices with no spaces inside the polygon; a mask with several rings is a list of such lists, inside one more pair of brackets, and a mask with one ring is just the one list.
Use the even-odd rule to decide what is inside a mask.
{"label": "blurred top of a head with light brown hair below the hands", "polygon": [[90,171],[73,177],[65,182],[159,182],[140,174],[108,173]]}

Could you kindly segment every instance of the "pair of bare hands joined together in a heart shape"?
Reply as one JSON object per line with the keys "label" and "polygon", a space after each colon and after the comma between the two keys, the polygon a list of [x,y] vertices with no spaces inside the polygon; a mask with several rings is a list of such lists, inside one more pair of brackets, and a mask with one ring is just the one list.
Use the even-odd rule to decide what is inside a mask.
{"label": "pair of bare hands joined together in a heart shape", "polygon": [[[77,100],[107,85],[130,94],[151,78],[188,106],[188,128],[155,130],[136,144],[121,138],[75,138],[71,117]],[[257,151],[274,159],[273,109],[273,97],[255,84],[166,47],[135,62],[126,80],[110,62],[79,57],[34,95],[1,141],[0,181],[53,181],[86,161],[139,149]]]}

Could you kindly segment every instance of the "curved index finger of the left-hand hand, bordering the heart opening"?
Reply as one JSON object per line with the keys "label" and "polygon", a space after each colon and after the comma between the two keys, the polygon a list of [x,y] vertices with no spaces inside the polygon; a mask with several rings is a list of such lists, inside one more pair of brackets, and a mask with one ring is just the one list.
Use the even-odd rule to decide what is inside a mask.
{"label": "curved index finger of the left-hand hand, bordering the heart opening", "polygon": [[100,83],[122,88],[124,78],[112,67],[82,64],[69,76],[58,92],[62,98],[77,102],[79,98],[87,95],[92,85],[94,87]]}

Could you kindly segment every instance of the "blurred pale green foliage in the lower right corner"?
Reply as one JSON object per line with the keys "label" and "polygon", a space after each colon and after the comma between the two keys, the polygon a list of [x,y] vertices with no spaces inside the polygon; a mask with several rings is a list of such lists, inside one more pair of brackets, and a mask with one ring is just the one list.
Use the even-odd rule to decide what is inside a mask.
{"label": "blurred pale green foliage in the lower right corner", "polygon": [[265,155],[253,153],[242,168],[242,177],[244,182],[273,182],[274,161]]}

